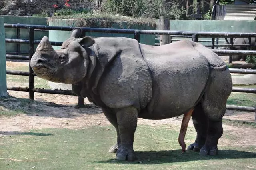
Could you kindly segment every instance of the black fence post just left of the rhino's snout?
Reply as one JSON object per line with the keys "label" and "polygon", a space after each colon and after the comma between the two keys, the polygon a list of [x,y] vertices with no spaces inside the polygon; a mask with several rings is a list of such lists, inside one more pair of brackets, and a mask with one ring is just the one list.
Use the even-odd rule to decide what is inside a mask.
{"label": "black fence post just left of the rhino's snout", "polygon": [[33,69],[30,67],[30,60],[34,54],[34,28],[28,28],[28,45],[29,45],[29,52],[28,52],[28,57],[29,57],[29,74],[28,74],[28,93],[29,93],[29,98],[34,100],[34,75],[33,75]]}

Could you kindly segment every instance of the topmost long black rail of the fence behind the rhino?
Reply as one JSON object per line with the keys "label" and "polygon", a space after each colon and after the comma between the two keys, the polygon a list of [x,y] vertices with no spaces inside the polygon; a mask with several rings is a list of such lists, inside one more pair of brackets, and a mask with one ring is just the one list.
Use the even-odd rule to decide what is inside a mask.
{"label": "topmost long black rail of the fence behind the rhino", "polygon": [[[26,24],[4,24],[5,28],[22,28],[22,29],[40,29],[40,30],[62,30],[72,31],[74,27],[68,26],[43,26],[43,25],[26,25]],[[135,29],[113,29],[113,28],[81,28],[85,32],[105,32],[105,33],[123,33],[123,34],[154,34],[154,35],[183,35],[200,37],[256,37],[256,33],[240,32],[191,32],[191,31],[168,31],[168,30],[135,30]]]}

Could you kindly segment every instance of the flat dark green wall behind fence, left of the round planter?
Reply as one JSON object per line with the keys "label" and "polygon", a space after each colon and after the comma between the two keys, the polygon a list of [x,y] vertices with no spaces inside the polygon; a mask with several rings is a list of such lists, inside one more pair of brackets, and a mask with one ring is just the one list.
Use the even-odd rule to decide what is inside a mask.
{"label": "flat dark green wall behind fence, left of the round planter", "polygon": [[[32,25],[47,25],[45,17],[30,17],[30,16],[2,16],[6,24],[32,24]],[[44,36],[48,36],[47,32],[35,31],[35,40],[41,40]],[[6,28],[6,38],[17,38],[16,28]],[[28,40],[28,29],[20,29],[20,39]],[[35,46],[36,48],[36,46]],[[17,52],[17,44],[6,43],[6,52]],[[20,52],[28,53],[28,44],[20,44]]]}

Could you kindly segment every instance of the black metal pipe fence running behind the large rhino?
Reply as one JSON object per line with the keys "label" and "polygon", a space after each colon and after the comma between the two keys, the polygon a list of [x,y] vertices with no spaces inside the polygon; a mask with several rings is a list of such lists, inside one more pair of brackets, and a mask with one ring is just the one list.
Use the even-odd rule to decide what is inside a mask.
{"label": "black metal pipe fence running behind the large rhino", "polygon": [[[74,27],[67,26],[41,26],[41,25],[24,25],[24,24],[4,24],[5,28],[17,28],[17,29],[28,29],[29,38],[28,40],[21,39],[6,39],[7,43],[24,43],[29,44],[29,54],[28,56],[7,54],[6,58],[8,59],[19,59],[19,60],[28,60],[30,65],[30,59],[34,54],[34,45],[39,44],[40,40],[34,40],[34,31],[38,30],[61,30],[61,31],[72,31]],[[111,29],[111,28],[81,28],[83,34],[86,32],[105,32],[105,33],[123,33],[123,34],[134,34],[134,38],[140,42],[140,34],[154,34],[154,35],[172,35],[172,36],[188,36],[192,38],[192,41],[198,42],[199,37],[210,37],[212,38],[212,51],[217,54],[246,54],[246,55],[256,55],[256,51],[247,51],[247,50],[218,50],[214,49],[215,38],[230,38],[233,42],[235,37],[248,37],[249,42],[251,37],[256,37],[256,33],[235,33],[235,32],[188,32],[188,31],[158,31],[158,30],[134,30],[134,29]],[[218,42],[218,41],[217,41]],[[62,42],[50,42],[54,46],[61,46]],[[230,44],[232,45],[232,44]],[[256,74],[256,70],[248,69],[232,69],[230,68],[231,73],[240,73],[240,74]],[[40,89],[34,88],[34,77],[36,76],[29,66],[28,72],[22,71],[10,71],[7,70],[7,74],[12,75],[21,75],[29,76],[29,85],[26,88],[23,87],[8,87],[8,90],[15,91],[24,91],[29,93],[29,98],[34,100],[34,93],[51,93],[51,94],[66,94],[66,95],[75,95],[74,92],[70,90],[51,90],[51,89]],[[256,94],[256,88],[238,88],[233,87],[233,92],[244,92],[244,93],[254,93]],[[79,98],[78,105],[83,105],[84,100]],[[234,106],[227,105],[227,109],[230,110],[241,110],[241,111],[250,111],[256,112],[256,107],[247,107],[247,106]]]}

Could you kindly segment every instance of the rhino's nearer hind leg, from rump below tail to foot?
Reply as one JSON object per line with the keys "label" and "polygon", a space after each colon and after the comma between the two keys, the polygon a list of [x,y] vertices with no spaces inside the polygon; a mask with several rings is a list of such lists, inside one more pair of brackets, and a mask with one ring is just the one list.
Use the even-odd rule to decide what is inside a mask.
{"label": "rhino's nearer hind leg, from rump below tail to foot", "polygon": [[200,149],[200,155],[218,154],[218,140],[223,134],[222,117],[226,111],[226,101],[232,91],[232,80],[228,69],[212,70],[212,81],[202,101],[202,109],[208,122],[206,141]]}

